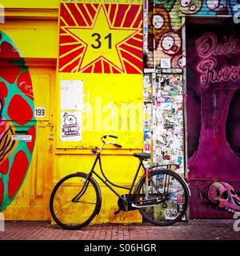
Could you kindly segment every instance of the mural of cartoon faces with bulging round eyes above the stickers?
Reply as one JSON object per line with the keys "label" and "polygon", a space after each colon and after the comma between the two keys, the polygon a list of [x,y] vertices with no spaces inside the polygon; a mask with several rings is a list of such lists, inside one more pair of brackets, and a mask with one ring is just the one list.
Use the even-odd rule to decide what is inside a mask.
{"label": "mural of cartoon faces with bulging round eyes above the stickers", "polygon": [[183,16],[234,16],[239,0],[149,0],[145,67],[161,68],[161,58],[169,58],[172,68],[186,66],[182,51]]}

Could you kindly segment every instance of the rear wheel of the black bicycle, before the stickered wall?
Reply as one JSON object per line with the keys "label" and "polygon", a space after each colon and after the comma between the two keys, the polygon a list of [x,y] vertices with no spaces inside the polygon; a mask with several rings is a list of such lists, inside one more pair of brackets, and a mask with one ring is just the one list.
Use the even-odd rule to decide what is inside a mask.
{"label": "rear wheel of the black bicycle, before the stickered wall", "polygon": [[[189,193],[182,178],[170,170],[155,170],[150,172],[148,185],[145,175],[138,182],[136,188],[137,200],[158,198],[154,206],[146,206],[140,202],[138,208],[146,221],[156,226],[170,226],[182,219],[186,213]],[[150,203],[151,204],[151,203]]]}

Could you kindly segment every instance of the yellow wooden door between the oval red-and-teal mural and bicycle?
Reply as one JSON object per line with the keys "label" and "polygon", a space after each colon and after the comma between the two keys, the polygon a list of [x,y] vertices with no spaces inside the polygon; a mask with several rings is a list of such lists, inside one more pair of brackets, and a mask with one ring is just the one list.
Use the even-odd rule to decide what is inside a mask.
{"label": "yellow wooden door between the oval red-and-teal mural and bicycle", "polygon": [[34,106],[45,110],[36,116],[37,136],[30,170],[22,188],[4,211],[8,220],[49,220],[49,199],[53,179],[54,84],[52,67],[30,67]]}

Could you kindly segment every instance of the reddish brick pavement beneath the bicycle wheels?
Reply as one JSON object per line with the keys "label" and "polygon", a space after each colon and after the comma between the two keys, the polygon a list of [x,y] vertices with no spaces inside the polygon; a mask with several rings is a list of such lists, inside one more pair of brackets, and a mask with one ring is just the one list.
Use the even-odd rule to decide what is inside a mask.
{"label": "reddish brick pavement beneath the bicycle wheels", "polygon": [[173,226],[144,224],[90,225],[62,230],[50,222],[6,222],[0,240],[240,240],[234,219],[191,219]]}

